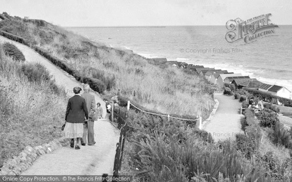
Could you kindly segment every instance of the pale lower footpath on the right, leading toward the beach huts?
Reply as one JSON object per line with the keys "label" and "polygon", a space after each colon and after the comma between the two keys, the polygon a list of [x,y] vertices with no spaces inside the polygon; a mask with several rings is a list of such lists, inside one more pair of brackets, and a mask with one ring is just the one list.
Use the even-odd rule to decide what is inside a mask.
{"label": "pale lower footpath on the right, leading toward the beach huts", "polygon": [[233,96],[214,94],[219,106],[213,118],[204,126],[204,130],[210,132],[215,141],[231,139],[235,140],[236,133],[241,130],[239,108],[241,103]]}

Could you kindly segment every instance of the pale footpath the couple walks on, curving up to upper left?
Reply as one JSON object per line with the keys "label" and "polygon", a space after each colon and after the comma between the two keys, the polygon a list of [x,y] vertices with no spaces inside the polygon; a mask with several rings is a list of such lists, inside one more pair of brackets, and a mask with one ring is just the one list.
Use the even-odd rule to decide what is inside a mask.
{"label": "pale footpath the couple walks on, curving up to upper left", "polygon": [[[10,42],[18,47],[25,56],[27,62],[40,63],[45,66],[55,78],[57,85],[62,85],[67,90],[82,84],[75,78],[53,65],[49,60],[39,55],[36,51],[18,42],[0,36],[0,42]],[[93,92],[92,92],[93,93]],[[73,92],[67,92],[72,97]],[[105,102],[96,94],[95,101],[100,102],[106,116]],[[65,115],[65,111],[64,111]],[[75,150],[61,147],[51,153],[41,155],[34,164],[21,175],[102,175],[112,174],[116,143],[119,141],[119,130],[108,119],[94,122],[95,142],[94,146],[80,146]]]}

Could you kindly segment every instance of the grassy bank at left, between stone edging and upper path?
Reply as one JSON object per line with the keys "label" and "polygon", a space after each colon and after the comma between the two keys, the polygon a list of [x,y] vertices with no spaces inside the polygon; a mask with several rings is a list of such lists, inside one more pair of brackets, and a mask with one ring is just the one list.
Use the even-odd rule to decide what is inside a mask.
{"label": "grassy bank at left, between stone edging and upper path", "polygon": [[51,81],[29,81],[19,70],[24,64],[5,56],[0,46],[0,167],[28,145],[61,137],[67,97],[53,91]]}

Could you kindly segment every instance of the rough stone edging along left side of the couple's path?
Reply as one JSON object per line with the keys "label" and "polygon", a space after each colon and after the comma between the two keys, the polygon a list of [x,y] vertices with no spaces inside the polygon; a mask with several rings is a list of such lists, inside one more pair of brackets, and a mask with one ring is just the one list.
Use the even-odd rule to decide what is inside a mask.
{"label": "rough stone edging along left side of the couple's path", "polygon": [[27,170],[37,160],[38,156],[51,153],[55,149],[69,145],[69,143],[70,140],[68,138],[62,137],[34,148],[26,146],[17,157],[14,156],[4,163],[0,168],[0,175],[20,175],[21,172]]}

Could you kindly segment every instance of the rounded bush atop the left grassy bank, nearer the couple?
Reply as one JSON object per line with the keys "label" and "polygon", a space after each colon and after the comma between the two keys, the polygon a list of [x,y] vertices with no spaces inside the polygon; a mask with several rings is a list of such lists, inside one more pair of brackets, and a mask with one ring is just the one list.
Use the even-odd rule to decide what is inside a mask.
{"label": "rounded bush atop the left grassy bank, nearer the couple", "polygon": [[30,82],[41,83],[43,81],[50,81],[51,79],[48,70],[40,64],[24,64],[19,69],[19,73],[23,73]]}

